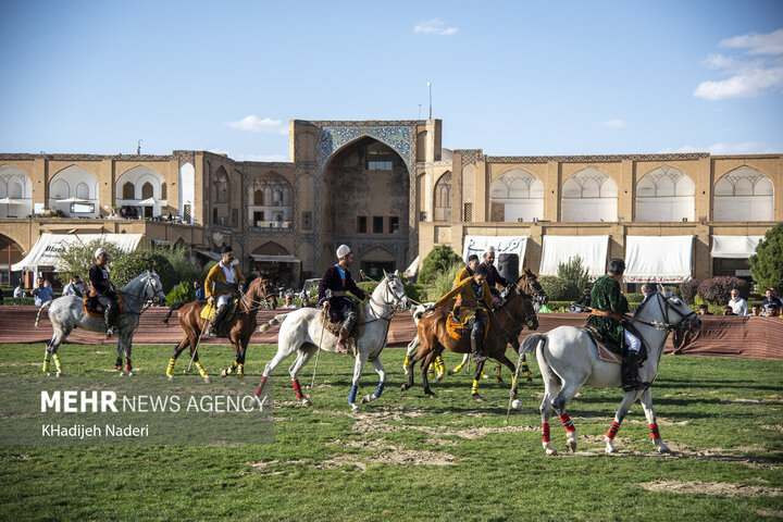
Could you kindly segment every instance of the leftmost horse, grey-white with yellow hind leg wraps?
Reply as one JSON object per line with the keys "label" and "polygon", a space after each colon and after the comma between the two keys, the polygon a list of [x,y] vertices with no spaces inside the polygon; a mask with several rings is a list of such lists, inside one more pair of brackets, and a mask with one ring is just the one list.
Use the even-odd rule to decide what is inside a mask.
{"label": "leftmost horse, grey-white with yellow hind leg wraps", "polygon": [[[125,370],[128,375],[134,375],[130,365],[130,350],[133,345],[133,336],[138,327],[139,318],[144,311],[147,301],[158,301],[165,303],[165,294],[160,277],[154,271],[147,271],[125,285],[119,294],[122,294],[124,301],[124,311],[116,318],[116,326],[120,330],[117,336],[117,370],[123,375],[122,356],[125,353]],[[89,330],[91,332],[104,332],[105,324],[103,316],[89,315],[84,309],[84,299],[76,296],[63,296],[44,303],[38,310],[36,318],[36,326],[40,321],[40,314],[44,310],[49,311],[49,320],[52,323],[54,334],[47,343],[46,356],[44,357],[44,372],[51,376],[49,363],[54,361],[57,368],[57,376],[61,377],[62,364],[58,348],[65,341],[65,338],[73,332],[75,327]]]}

